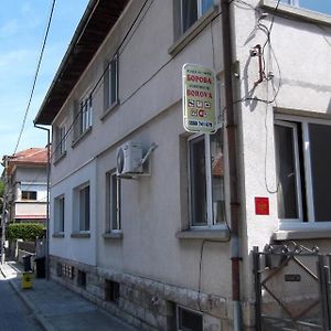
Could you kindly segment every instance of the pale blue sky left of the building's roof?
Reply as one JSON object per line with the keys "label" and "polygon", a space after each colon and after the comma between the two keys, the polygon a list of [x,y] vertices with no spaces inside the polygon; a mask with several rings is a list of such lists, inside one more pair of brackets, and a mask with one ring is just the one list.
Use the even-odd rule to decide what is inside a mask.
{"label": "pale blue sky left of the building's roof", "polygon": [[[57,0],[46,47],[18,151],[46,145],[33,127],[53,76],[88,0]],[[1,0],[0,11],[0,158],[12,154],[31,93],[52,0]]]}

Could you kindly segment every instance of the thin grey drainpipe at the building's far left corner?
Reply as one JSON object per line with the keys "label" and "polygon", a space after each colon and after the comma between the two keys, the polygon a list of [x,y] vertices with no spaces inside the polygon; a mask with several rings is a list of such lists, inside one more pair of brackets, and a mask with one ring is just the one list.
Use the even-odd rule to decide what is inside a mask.
{"label": "thin grey drainpipe at the building's far left corner", "polygon": [[51,181],[51,129],[33,122],[34,127],[47,131],[47,194],[46,194],[46,249],[45,249],[45,276],[50,279],[50,181]]}

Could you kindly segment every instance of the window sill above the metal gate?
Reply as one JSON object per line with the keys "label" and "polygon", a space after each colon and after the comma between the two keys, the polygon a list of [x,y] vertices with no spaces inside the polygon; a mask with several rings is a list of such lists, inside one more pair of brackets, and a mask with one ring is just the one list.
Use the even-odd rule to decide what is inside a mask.
{"label": "window sill above the metal gate", "polygon": [[293,229],[293,231],[277,231],[273,235],[275,242],[280,241],[300,241],[300,239],[323,239],[331,238],[331,228],[329,229]]}

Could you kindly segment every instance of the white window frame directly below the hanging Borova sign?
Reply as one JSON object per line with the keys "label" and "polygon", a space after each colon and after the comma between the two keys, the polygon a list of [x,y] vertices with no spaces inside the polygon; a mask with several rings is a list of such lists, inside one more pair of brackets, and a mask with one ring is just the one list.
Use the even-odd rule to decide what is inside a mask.
{"label": "white window frame directly below the hanging Borova sign", "polygon": [[[222,131],[223,135],[223,131]],[[206,181],[206,223],[205,225],[194,225],[193,224],[193,211],[192,211],[192,181],[194,177],[191,174],[192,166],[191,166],[191,153],[190,146],[193,140],[199,137],[203,137],[204,139],[204,159],[205,159],[205,181]],[[215,224],[213,220],[213,190],[212,190],[212,161],[211,161],[211,135],[209,134],[195,134],[188,138],[188,166],[189,166],[189,216],[190,216],[190,228],[191,229],[223,229],[226,227],[226,222],[222,222],[222,224]],[[224,152],[224,151],[223,151]],[[223,181],[225,182],[225,175],[223,177]],[[224,188],[225,189],[225,188]],[[223,192],[225,196],[225,192]],[[225,211],[224,211],[225,212]],[[226,217],[226,215],[224,215]]]}

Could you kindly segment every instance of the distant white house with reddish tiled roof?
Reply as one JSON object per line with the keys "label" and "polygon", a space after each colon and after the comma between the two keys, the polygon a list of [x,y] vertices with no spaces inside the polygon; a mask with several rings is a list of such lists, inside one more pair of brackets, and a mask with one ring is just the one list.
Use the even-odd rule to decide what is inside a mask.
{"label": "distant white house with reddish tiled roof", "polygon": [[47,148],[29,148],[8,161],[9,221],[46,222]]}

